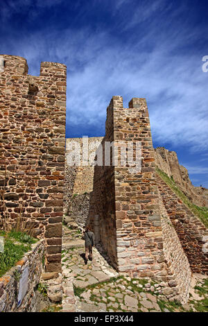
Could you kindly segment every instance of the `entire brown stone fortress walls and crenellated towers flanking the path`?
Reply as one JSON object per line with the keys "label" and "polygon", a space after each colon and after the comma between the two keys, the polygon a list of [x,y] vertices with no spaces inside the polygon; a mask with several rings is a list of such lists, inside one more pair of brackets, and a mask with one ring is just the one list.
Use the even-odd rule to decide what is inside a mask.
{"label": "entire brown stone fortress walls and crenellated towers flanking the path", "polygon": [[[92,225],[117,271],[164,282],[162,294],[186,302],[191,271],[207,273],[207,230],[156,174],[145,98],[123,108],[123,98],[113,96],[105,137],[88,139],[87,157],[80,138],[67,139],[65,151],[66,70],[42,62],[40,76],[31,76],[24,58],[0,55],[1,228],[21,225],[45,238],[46,272],[61,271],[64,209],[79,225]],[[75,141],[83,161],[73,166]],[[105,164],[105,144],[112,141]],[[123,164],[128,144],[141,150],[133,167]],[[101,153],[102,164],[89,166],[89,157],[98,162]],[[171,165],[166,155],[166,168],[177,176],[172,156]]]}

